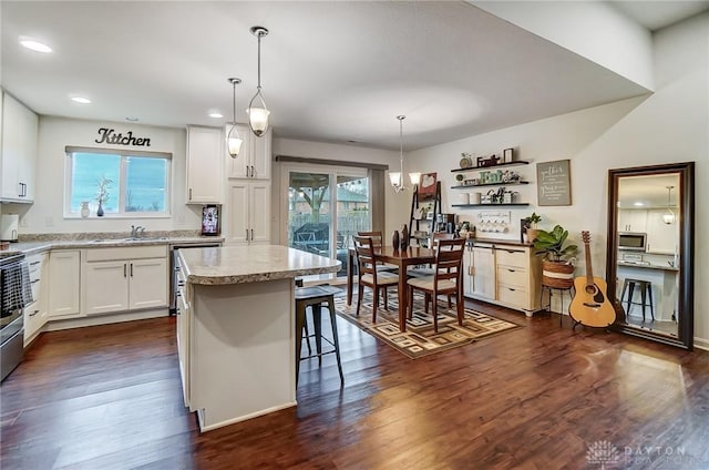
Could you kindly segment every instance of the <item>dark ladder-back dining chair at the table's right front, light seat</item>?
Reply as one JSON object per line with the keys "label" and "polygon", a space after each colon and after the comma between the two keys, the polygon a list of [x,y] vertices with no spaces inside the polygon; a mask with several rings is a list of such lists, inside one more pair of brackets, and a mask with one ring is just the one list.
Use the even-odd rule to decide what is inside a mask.
{"label": "dark ladder-back dining chair at the table's right front, light seat", "polygon": [[439,295],[449,296],[449,307],[451,296],[455,296],[458,324],[463,325],[463,253],[465,251],[465,238],[440,238],[434,249],[435,264],[433,265],[433,275],[410,278],[407,280],[407,285],[409,290],[409,318],[413,316],[414,289],[423,290],[427,313],[429,300],[433,303],[433,330],[438,333]]}

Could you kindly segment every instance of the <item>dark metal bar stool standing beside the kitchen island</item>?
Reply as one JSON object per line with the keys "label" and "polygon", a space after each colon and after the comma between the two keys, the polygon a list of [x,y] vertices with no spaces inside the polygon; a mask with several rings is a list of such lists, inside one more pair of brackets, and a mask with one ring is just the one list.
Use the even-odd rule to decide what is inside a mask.
{"label": "dark metal bar stool standing beside the kitchen island", "polygon": [[[296,386],[298,386],[298,375],[300,372],[300,361],[318,358],[318,366],[322,366],[322,356],[326,354],[335,352],[337,357],[337,368],[340,372],[340,384],[345,384],[345,376],[342,375],[342,361],[340,359],[340,344],[337,335],[337,317],[335,314],[335,294],[340,289],[330,286],[312,286],[301,287],[296,289],[296,333],[300,335],[296,341]],[[322,336],[322,304],[327,304],[327,309],[330,313],[330,325],[332,327],[332,339]],[[306,310],[310,307],[312,310],[312,324],[315,334],[308,335],[305,329],[306,325]],[[316,352],[308,356],[300,357],[302,349],[302,340],[308,341],[308,349],[310,348],[309,338],[315,338]],[[332,350],[322,351],[322,340],[332,346]]]}

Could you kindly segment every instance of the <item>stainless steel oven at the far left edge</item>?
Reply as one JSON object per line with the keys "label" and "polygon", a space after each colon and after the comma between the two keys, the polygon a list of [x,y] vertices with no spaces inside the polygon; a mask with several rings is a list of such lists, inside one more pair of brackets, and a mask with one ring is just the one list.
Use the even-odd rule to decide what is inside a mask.
{"label": "stainless steel oven at the far left edge", "polygon": [[32,302],[24,255],[0,257],[0,380],[22,361],[24,311]]}

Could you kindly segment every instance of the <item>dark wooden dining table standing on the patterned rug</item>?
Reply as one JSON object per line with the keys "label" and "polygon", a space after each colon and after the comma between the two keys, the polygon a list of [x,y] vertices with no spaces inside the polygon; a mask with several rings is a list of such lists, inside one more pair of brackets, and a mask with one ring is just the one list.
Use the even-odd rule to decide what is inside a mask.
{"label": "dark wooden dining table standing on the patterned rug", "polygon": [[[399,329],[407,330],[407,270],[409,266],[428,265],[435,263],[435,251],[423,248],[420,246],[409,246],[407,249],[394,249],[392,246],[376,246],[374,258],[378,262],[394,265],[399,268]],[[357,251],[351,247],[348,249],[347,258],[347,305],[352,305],[352,290],[354,278],[354,263],[357,259]]]}

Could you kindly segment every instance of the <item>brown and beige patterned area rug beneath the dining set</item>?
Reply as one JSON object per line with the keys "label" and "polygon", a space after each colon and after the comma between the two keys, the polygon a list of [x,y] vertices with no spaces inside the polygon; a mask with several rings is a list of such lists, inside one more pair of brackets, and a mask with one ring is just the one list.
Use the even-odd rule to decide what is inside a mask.
{"label": "brown and beige patterned area rug beneath the dining set", "polygon": [[433,331],[431,309],[423,311],[423,300],[414,297],[413,316],[407,319],[407,331],[399,330],[399,303],[395,293],[389,293],[389,310],[383,309],[383,302],[377,309],[377,323],[372,324],[372,297],[366,293],[357,316],[357,295],[352,305],[347,305],[345,297],[336,297],[338,315],[354,324],[366,333],[383,340],[411,359],[469,345],[502,331],[520,328],[511,321],[495,318],[492,315],[465,308],[463,326],[458,324],[455,305],[446,308],[445,300],[439,300],[439,333]]}

